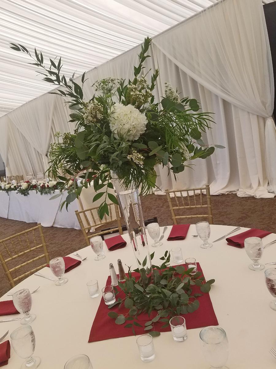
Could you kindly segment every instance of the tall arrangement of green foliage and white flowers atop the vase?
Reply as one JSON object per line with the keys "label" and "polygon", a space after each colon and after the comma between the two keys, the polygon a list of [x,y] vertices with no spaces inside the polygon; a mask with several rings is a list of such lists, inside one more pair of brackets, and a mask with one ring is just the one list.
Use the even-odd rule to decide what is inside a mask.
{"label": "tall arrangement of green foliage and white flowers atop the vase", "polygon": [[[201,132],[209,129],[213,120],[211,113],[199,112],[196,99],[181,98],[177,90],[165,83],[164,97],[160,103],[155,101],[153,90],[159,70],[149,78],[146,76],[150,70],[143,71],[150,44],[151,38],[146,37],[138,55],[139,64],[134,66],[133,79],[97,80],[92,85],[95,94],[89,101],[84,100],[82,90],[85,73],[81,86],[74,81],[75,73],[67,81],[61,74],[61,57],[50,59],[50,65],[46,66],[41,51],[35,48],[33,57],[25,46],[11,44],[12,49],[28,54],[35,61],[30,64],[43,69],[38,72],[43,80],[61,86],[50,93],[65,97],[73,110],[70,122],[76,124],[74,134],[64,134],[63,141],[52,144],[49,152],[49,177],[66,182],[61,191],[67,189],[68,179],[60,173],[74,177],[74,190],[62,206],[66,203],[67,208],[96,176],[93,184],[98,193],[93,200],[102,198],[99,216],[103,218],[109,213],[107,197],[117,203],[107,193],[107,188],[113,188],[111,171],[122,186],[140,188],[140,194],[145,195],[155,189],[155,165],[167,166],[168,173],[176,177],[190,166],[190,160],[205,159],[213,154],[215,146],[223,147],[208,146],[202,141]],[[81,186],[77,186],[76,180],[79,173],[83,179]],[[103,187],[106,190],[100,192]]]}

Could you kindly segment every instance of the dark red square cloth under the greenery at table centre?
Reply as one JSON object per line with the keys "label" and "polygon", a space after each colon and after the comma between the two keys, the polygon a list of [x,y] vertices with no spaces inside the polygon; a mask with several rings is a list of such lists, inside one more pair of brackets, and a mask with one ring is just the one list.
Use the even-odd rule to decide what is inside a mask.
{"label": "dark red square cloth under the greenery at table centre", "polygon": [[[199,272],[202,272],[199,263],[197,263],[197,270]],[[132,273],[132,276],[135,277],[135,275],[139,276],[138,273]],[[203,274],[201,277],[203,277]],[[109,276],[107,278],[106,285],[110,284],[111,279]],[[201,293],[200,287],[193,286],[193,294],[194,293]],[[124,293],[120,292],[119,294],[117,294],[116,298],[117,297],[124,298]],[[203,293],[202,296],[198,297],[197,299],[200,304],[198,310],[194,311],[193,313],[183,315],[186,320],[187,329],[207,327],[208,325],[218,325],[219,323],[217,321],[209,293]],[[118,308],[118,305],[115,305],[114,307],[109,309],[103,301],[102,297],[98,311],[93,321],[88,342],[104,341],[105,339],[128,337],[133,335],[131,328],[124,328],[125,324],[130,323],[130,321],[126,321],[125,324],[118,325],[115,323],[115,319],[110,318],[107,315],[109,311],[116,311],[116,313],[118,314],[126,314],[128,312],[128,309],[124,307],[124,304],[122,304],[120,309]],[[138,316],[138,322],[143,325],[143,327],[134,326],[136,335],[148,333],[148,331],[144,330],[144,324],[155,317],[156,314],[157,312],[153,311],[150,315],[150,318],[146,313],[141,313]],[[157,322],[154,323],[154,325],[155,330],[159,332],[169,332],[171,330],[170,326],[166,328],[160,328],[162,327],[162,325],[164,325],[163,322]]]}

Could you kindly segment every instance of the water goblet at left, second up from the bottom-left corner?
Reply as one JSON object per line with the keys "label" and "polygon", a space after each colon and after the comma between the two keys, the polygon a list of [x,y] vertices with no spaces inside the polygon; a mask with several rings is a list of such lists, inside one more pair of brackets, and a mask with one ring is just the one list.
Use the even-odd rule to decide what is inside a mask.
{"label": "water goblet at left, second up from the bottom-left corner", "polygon": [[13,303],[21,314],[25,314],[25,317],[21,320],[21,324],[30,324],[35,320],[36,315],[30,314],[32,308],[32,295],[27,288],[13,294]]}

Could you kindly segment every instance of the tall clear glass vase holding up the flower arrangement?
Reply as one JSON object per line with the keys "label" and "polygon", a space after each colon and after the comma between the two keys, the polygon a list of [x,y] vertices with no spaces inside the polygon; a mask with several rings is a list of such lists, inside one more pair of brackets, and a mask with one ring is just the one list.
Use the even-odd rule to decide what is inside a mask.
{"label": "tall clear glass vase holding up the flower arrangement", "polygon": [[121,211],[124,215],[125,225],[127,226],[130,236],[134,256],[141,276],[146,282],[152,273],[152,263],[139,197],[139,189],[125,189],[121,186],[120,179],[118,179],[116,173],[112,173],[112,178]]}

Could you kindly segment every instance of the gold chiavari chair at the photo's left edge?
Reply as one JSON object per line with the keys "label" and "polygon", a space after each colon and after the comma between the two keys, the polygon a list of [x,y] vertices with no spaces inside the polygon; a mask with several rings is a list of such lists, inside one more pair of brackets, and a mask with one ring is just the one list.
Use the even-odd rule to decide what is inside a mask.
{"label": "gold chiavari chair at the photo's left edge", "polygon": [[[37,254],[36,251],[39,251],[39,249],[42,249],[43,253],[30,259],[31,256]],[[10,262],[14,264],[17,258],[20,258],[23,262],[20,265],[9,268],[8,264]],[[42,265],[27,270],[17,277],[13,277],[14,273],[25,271],[31,263],[37,262],[42,258],[45,258],[46,261]],[[40,223],[38,223],[36,227],[0,240],[0,264],[4,269],[4,273],[11,288],[15,286],[15,282],[44,268],[48,263],[49,254]]]}

